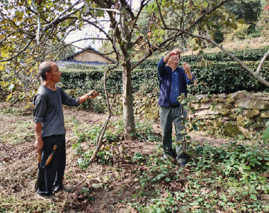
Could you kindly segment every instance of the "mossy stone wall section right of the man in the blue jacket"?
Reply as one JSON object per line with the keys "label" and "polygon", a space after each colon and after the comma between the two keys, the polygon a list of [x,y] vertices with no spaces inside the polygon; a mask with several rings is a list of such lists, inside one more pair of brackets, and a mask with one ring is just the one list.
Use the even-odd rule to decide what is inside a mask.
{"label": "mossy stone wall section right of the man in the blue jacket", "polygon": [[265,94],[250,94],[245,90],[228,95],[200,94],[191,103],[195,114],[188,117],[200,119],[200,130],[209,131],[212,135],[241,135],[250,139],[265,128],[269,117],[268,101]]}

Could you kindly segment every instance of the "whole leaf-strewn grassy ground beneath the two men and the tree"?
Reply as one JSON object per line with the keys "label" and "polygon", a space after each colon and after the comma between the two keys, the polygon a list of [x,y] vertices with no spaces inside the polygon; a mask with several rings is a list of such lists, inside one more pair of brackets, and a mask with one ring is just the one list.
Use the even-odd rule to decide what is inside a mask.
{"label": "whole leaf-strewn grassy ground beneath the two men and the tree", "polygon": [[88,165],[105,115],[76,109],[64,109],[64,184],[74,190],[57,192],[59,202],[37,200],[32,109],[6,106],[0,103],[0,212],[269,212],[263,141],[214,146],[214,138],[196,135],[190,162],[180,168],[174,158],[162,159],[159,124],[137,120],[136,141],[123,141],[122,119],[114,116]]}

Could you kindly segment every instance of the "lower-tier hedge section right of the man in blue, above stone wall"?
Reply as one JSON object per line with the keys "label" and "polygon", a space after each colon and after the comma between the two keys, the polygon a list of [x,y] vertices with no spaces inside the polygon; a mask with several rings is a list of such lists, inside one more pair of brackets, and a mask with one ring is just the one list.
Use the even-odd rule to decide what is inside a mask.
{"label": "lower-tier hedge section right of the man in blue, above stone wall", "polygon": [[[256,70],[259,62],[245,62],[252,70]],[[268,90],[265,84],[257,80],[250,72],[246,71],[237,62],[213,63],[212,67],[199,68],[193,66],[193,73],[198,79],[195,92],[199,94],[231,93],[239,90],[263,92]],[[266,61],[261,69],[261,77],[269,80],[269,62]],[[205,84],[202,84],[205,83]],[[193,91],[193,85],[189,87]]]}

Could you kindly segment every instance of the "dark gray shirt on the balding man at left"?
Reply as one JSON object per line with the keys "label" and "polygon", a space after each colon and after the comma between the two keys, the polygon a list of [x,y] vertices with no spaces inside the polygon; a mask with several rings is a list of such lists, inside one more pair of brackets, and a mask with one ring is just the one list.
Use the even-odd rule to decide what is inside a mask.
{"label": "dark gray shirt on the balding man at left", "polygon": [[33,99],[33,104],[33,121],[35,124],[42,122],[42,137],[61,135],[65,133],[62,104],[69,107],[79,106],[79,97],[69,97],[60,87],[53,91],[42,85]]}

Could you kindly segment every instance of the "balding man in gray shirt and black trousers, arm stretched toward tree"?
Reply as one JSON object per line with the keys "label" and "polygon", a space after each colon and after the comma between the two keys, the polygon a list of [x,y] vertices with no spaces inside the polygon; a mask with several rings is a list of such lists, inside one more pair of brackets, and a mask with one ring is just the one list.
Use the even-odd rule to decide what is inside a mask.
{"label": "balding man in gray shirt and black trousers, arm stretched toward tree", "polygon": [[[41,166],[45,165],[54,145],[57,145],[57,150],[41,178],[38,198],[58,200],[59,198],[54,196],[53,192],[71,189],[62,184],[66,162],[62,104],[76,107],[87,99],[97,97],[98,93],[90,91],[82,97],[69,97],[60,87],[55,85],[61,81],[62,73],[59,72],[59,67],[54,62],[42,62],[39,67],[39,75],[44,82],[33,99],[35,105],[33,121],[35,122],[35,149],[37,152],[42,151]],[[88,97],[89,94],[91,96]]]}

